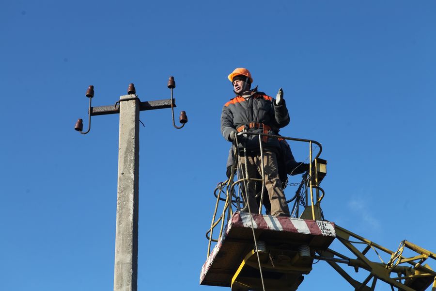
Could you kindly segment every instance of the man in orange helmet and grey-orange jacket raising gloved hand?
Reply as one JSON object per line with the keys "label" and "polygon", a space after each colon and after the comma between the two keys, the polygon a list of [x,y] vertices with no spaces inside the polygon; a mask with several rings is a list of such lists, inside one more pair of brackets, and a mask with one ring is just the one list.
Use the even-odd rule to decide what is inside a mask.
{"label": "man in orange helmet and grey-orange jacket raising gloved hand", "polygon": [[[257,86],[251,88],[253,81],[249,70],[236,68],[228,76],[233,83],[236,97],[224,104],[221,113],[221,134],[234,142],[237,140],[239,156],[242,163],[244,178],[257,178],[262,173],[259,136],[253,134],[237,135],[238,132],[276,134],[280,128],[289,123],[289,114],[283,99],[283,90],[279,90],[277,99],[257,91]],[[237,135],[237,136],[236,136]],[[263,163],[265,188],[271,203],[271,214],[289,216],[286,197],[283,194],[279,178],[277,154],[280,152],[280,142],[277,138],[261,137],[263,146]],[[244,150],[245,147],[245,150]],[[246,156],[244,156],[246,153]],[[248,177],[246,176],[248,173]],[[262,176],[261,176],[262,177]],[[247,182],[248,202],[246,210],[258,213],[255,199],[255,182]]]}

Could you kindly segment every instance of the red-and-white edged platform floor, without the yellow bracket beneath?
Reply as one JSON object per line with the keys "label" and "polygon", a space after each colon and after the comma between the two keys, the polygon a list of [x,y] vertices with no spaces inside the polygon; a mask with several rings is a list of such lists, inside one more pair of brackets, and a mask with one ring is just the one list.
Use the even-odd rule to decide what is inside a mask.
{"label": "red-and-white edged platform floor, without the yellow bracket beneath", "polygon": [[[296,251],[301,245],[311,250],[327,249],[335,239],[333,222],[252,214],[257,241],[268,248]],[[235,212],[223,235],[202,266],[201,285],[230,287],[241,261],[254,248],[251,219],[247,212]]]}

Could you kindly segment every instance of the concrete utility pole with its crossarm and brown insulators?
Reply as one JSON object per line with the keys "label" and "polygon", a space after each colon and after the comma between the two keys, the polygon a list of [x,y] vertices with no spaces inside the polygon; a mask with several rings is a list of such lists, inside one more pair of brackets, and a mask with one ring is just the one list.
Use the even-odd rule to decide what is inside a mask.
{"label": "concrete utility pole with its crossarm and brown insulators", "polygon": [[[175,99],[172,98],[174,87],[174,78],[170,77],[168,88],[171,89],[171,99],[140,102],[134,85],[130,84],[128,95],[121,96],[115,105],[93,108],[91,99],[94,92],[93,86],[90,86],[86,93],[90,98],[88,131],[82,131],[82,119],[76,123],[75,129],[86,134],[91,129],[91,116],[120,114],[114,291],[138,290],[139,113],[142,110],[176,107]],[[187,123],[184,111],[180,114],[181,127],[174,124],[174,112],[172,119],[173,126],[177,129]]]}

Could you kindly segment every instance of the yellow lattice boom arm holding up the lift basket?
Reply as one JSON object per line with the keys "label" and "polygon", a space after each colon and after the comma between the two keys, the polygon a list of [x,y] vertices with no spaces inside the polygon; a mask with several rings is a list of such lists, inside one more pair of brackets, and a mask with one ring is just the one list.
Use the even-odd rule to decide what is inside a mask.
{"label": "yellow lattice boom arm holding up the lift basket", "polygon": [[[315,259],[327,261],[355,290],[374,291],[377,280],[380,280],[389,284],[392,290],[395,287],[401,291],[424,291],[433,283],[432,291],[436,291],[436,272],[428,264],[422,265],[428,258],[435,259],[435,253],[407,241],[401,242],[399,249],[394,252],[343,227],[336,226],[335,228],[337,239],[356,256],[356,259],[348,258],[331,249],[317,251],[320,256],[315,256]],[[366,244],[363,251],[358,249],[358,244]],[[406,257],[403,254],[405,247],[418,254]],[[370,249],[374,250],[381,262],[372,261],[366,256]],[[387,263],[383,261],[377,250],[390,256]],[[366,270],[369,275],[359,282],[338,263],[353,267],[355,272],[359,269]],[[403,263],[406,265],[400,265]],[[373,279],[371,286],[367,286],[371,279]]]}

